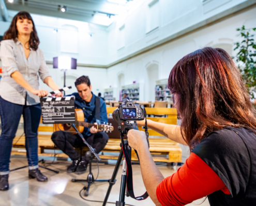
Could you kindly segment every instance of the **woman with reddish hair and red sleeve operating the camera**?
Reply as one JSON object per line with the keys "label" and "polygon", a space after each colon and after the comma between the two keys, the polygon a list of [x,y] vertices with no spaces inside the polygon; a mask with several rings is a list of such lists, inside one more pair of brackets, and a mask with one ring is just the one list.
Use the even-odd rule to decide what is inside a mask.
{"label": "woman with reddish hair and red sleeve operating the camera", "polygon": [[[191,155],[164,178],[148,150],[145,132],[128,131],[143,181],[156,205],[185,205],[208,196],[210,205],[256,202],[256,118],[242,77],[227,52],[205,47],[173,67],[169,88],[181,126],[148,120],[147,126],[190,147]],[[144,126],[145,121],[138,121]]]}

